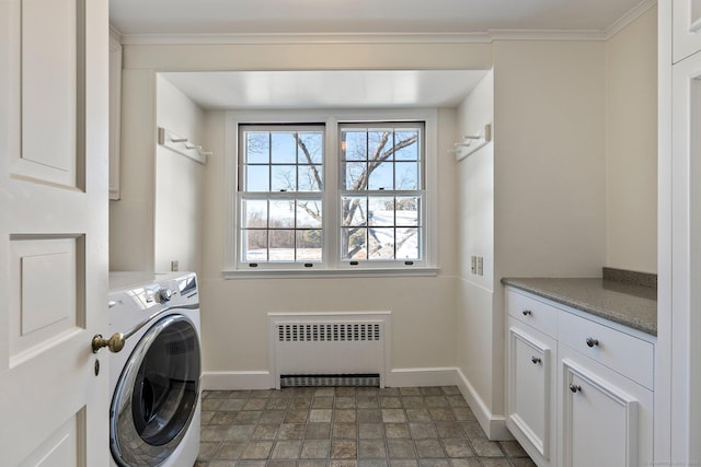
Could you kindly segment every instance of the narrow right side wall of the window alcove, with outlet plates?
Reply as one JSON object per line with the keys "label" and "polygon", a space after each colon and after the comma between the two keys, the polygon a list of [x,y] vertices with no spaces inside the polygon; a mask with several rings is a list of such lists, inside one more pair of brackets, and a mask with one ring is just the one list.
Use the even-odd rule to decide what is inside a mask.
{"label": "narrow right side wall of the window alcove, with outlet plates", "polygon": [[[476,135],[494,122],[494,73],[490,72],[458,108],[458,133]],[[496,137],[496,135],[494,135]],[[494,143],[457,162],[458,174],[458,301],[457,366],[482,425],[490,430],[493,413],[494,327]],[[483,276],[471,272],[471,256],[484,258]],[[497,339],[498,340],[498,339]]]}

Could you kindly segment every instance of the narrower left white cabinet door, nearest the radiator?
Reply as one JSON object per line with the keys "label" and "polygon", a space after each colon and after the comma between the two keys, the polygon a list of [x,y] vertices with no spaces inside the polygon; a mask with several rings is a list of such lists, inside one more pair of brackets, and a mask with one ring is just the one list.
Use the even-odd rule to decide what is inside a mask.
{"label": "narrower left white cabinet door, nearest the radiator", "polygon": [[554,341],[509,319],[506,425],[539,465],[553,457]]}

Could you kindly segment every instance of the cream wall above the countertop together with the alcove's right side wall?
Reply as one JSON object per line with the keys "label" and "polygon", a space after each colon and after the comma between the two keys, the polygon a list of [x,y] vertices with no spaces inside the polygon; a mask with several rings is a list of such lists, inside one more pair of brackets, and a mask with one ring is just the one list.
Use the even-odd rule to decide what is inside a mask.
{"label": "cream wall above the countertop together with the alcove's right side wall", "polygon": [[[598,277],[606,258],[605,45],[497,42],[458,131],[494,142],[459,163],[457,364],[482,428],[505,437],[503,277]],[[470,257],[484,257],[484,276]],[[479,358],[475,358],[479,355]]]}

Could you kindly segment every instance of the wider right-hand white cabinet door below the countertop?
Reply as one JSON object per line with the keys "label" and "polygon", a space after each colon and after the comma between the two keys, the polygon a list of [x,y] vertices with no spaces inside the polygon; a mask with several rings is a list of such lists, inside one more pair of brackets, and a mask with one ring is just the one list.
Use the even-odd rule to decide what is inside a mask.
{"label": "wider right-hand white cabinet door below the countertop", "polygon": [[566,346],[559,351],[559,465],[651,465],[652,392]]}

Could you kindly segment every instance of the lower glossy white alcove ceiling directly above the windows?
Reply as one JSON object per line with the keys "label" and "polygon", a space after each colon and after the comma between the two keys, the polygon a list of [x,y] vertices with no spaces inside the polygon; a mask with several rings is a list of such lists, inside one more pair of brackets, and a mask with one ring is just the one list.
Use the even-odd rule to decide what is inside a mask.
{"label": "lower glossy white alcove ceiling directly above the windows", "polygon": [[206,109],[455,107],[485,74],[473,70],[162,73]]}

